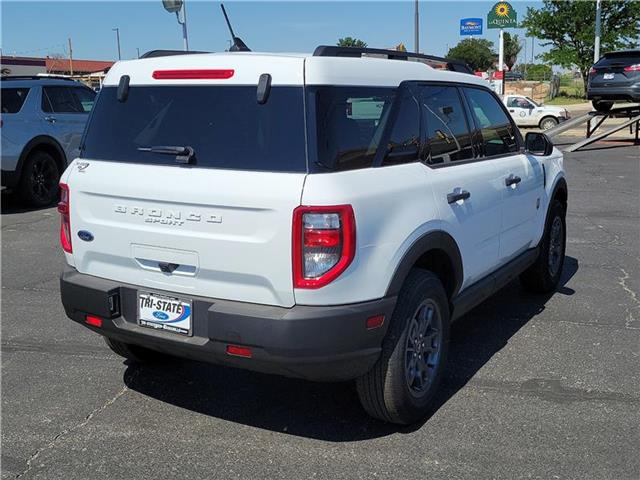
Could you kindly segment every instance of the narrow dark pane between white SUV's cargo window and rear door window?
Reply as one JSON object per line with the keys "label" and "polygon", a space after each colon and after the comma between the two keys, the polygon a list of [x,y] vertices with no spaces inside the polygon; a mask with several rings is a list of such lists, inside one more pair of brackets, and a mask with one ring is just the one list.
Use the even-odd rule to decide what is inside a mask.
{"label": "narrow dark pane between white SUV's cargo window and rear door window", "polygon": [[420,104],[408,90],[400,95],[398,115],[391,129],[382,165],[414,162],[420,154]]}

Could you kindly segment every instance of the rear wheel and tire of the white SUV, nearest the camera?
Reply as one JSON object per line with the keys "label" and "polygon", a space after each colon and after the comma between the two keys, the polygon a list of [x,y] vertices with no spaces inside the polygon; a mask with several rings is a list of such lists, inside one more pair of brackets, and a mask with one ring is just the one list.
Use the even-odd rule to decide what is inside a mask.
{"label": "rear wheel and tire of the white SUV, nearest the camera", "polygon": [[[431,327],[439,328],[439,332],[433,336],[432,331],[425,329],[423,336],[412,336],[411,333],[417,332],[416,325],[419,325],[416,319],[419,316],[423,318],[422,315],[426,318],[428,309],[432,312]],[[424,341],[425,337],[430,338],[431,342],[425,343],[431,349],[427,347],[429,353],[426,353],[425,343],[422,343],[422,350],[418,345],[419,353],[416,355],[414,340],[419,343],[418,338]],[[403,425],[423,418],[429,412],[440,384],[448,348],[449,302],[444,287],[433,273],[414,269],[398,295],[380,358],[369,372],[356,380],[358,396],[367,413],[379,420]],[[414,368],[409,367],[412,361]],[[422,377],[426,371],[416,368],[418,363],[432,367],[428,378]],[[418,388],[420,386],[422,388]]]}

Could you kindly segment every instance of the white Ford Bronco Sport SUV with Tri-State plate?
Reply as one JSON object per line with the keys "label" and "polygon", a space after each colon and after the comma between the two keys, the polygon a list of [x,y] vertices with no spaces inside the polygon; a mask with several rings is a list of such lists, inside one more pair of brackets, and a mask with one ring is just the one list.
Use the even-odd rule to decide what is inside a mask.
{"label": "white Ford Bronco Sport SUV with Tri-State plate", "polygon": [[557,285],[567,184],[485,81],[378,53],[115,64],[60,185],[66,314],[133,361],[355,379],[374,417],[424,416],[453,320]]}

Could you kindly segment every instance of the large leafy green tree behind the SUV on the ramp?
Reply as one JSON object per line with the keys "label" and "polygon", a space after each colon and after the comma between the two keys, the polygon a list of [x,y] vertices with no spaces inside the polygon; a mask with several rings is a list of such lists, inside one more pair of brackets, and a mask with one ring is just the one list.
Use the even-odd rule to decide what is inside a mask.
{"label": "large leafy green tree behind the SUV on the ramp", "polygon": [[[544,40],[551,46],[541,55],[547,62],[566,68],[580,69],[586,88],[589,69],[593,64],[596,2],[576,0],[544,0],[536,10],[527,8],[522,26],[527,35]],[[607,0],[602,2],[602,53],[636,47],[640,39],[640,2]]]}

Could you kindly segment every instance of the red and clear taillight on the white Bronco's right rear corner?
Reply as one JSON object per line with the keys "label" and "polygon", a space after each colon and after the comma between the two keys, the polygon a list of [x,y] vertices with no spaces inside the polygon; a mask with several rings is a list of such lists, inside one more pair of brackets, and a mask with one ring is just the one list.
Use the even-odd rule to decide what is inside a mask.
{"label": "red and clear taillight on the white Bronco's right rear corner", "polygon": [[295,288],[320,288],[335,280],[356,252],[351,205],[296,208],[292,248]]}

